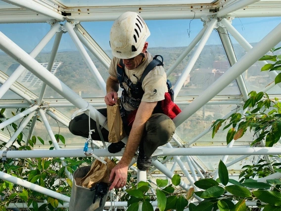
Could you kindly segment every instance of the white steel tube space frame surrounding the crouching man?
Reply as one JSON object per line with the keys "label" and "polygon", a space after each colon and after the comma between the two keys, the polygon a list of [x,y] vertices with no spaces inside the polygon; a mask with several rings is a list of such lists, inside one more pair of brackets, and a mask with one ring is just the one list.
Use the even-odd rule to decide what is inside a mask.
{"label": "white steel tube space frame surrounding the crouching man", "polygon": [[[32,22],[47,22],[51,25],[50,31],[43,38],[43,40],[35,47],[35,49],[27,54],[22,49],[20,49],[15,43],[13,43],[9,38],[0,32],[0,49],[10,55],[12,58],[17,60],[21,65],[17,70],[10,76],[6,76],[4,73],[0,72],[0,98],[5,94],[5,92],[10,89],[11,91],[22,97],[23,101],[18,100],[0,100],[0,108],[18,108],[26,107],[25,111],[17,114],[16,116],[0,123],[0,129],[7,126],[8,124],[22,118],[28,114],[28,117],[23,121],[21,127],[12,136],[8,137],[0,133],[0,140],[6,142],[5,147],[0,151],[0,158],[55,158],[55,157],[85,157],[82,149],[70,149],[61,150],[55,140],[54,134],[51,127],[47,121],[46,114],[61,122],[63,125],[68,126],[69,119],[65,117],[60,112],[55,110],[55,107],[69,107],[75,106],[79,109],[86,108],[88,102],[90,103],[90,114],[95,120],[95,113],[98,114],[99,122],[103,124],[105,117],[101,115],[94,106],[105,106],[102,99],[82,99],[69,87],[67,87],[63,82],[57,79],[49,71],[57,53],[57,49],[60,43],[62,33],[69,33],[71,39],[76,45],[78,51],[81,53],[83,59],[87,63],[89,69],[91,70],[93,77],[95,78],[100,89],[105,94],[105,82],[100,76],[94,62],[91,60],[86,48],[94,54],[94,56],[106,67],[109,67],[110,58],[104,53],[104,51],[96,44],[92,37],[87,33],[87,31],[80,25],[83,21],[106,21],[114,20],[124,11],[136,11],[140,12],[141,16],[145,20],[149,19],[191,19],[191,18],[201,18],[204,22],[204,27],[201,32],[194,38],[194,40],[187,47],[186,51],[179,56],[172,67],[167,71],[167,75],[171,74],[173,70],[178,66],[178,64],[187,56],[188,53],[197,45],[196,50],[190,57],[187,66],[184,68],[181,77],[177,81],[175,90],[175,102],[179,105],[187,105],[184,110],[173,120],[178,127],[186,119],[188,119],[193,113],[195,113],[199,108],[207,104],[222,105],[222,104],[234,104],[238,107],[242,107],[245,100],[247,100],[248,91],[246,89],[242,73],[254,64],[260,57],[270,51],[279,42],[281,42],[281,24],[279,24],[275,29],[273,29],[263,40],[261,40],[255,47],[251,47],[250,44],[234,29],[231,21],[235,17],[264,17],[264,16],[281,16],[281,1],[261,1],[258,0],[217,0],[214,3],[209,4],[183,4],[181,1],[173,1],[173,4],[168,0],[161,2],[161,5],[157,5],[157,1],[150,1],[149,5],[95,5],[92,7],[66,7],[56,0],[3,0],[5,2],[14,4],[21,7],[20,10],[13,8],[0,8],[0,23],[32,23]],[[215,81],[206,91],[204,91],[200,96],[189,96],[189,97],[177,97],[181,87],[185,82],[185,78],[191,71],[193,65],[195,64],[199,54],[201,53],[203,47],[205,46],[210,34],[214,29],[217,29],[220,33],[220,37],[223,46],[226,50],[227,56],[229,58],[231,68],[225,72],[217,81]],[[227,34],[230,33],[235,40],[247,51],[241,59],[236,60],[231,41]],[[45,69],[40,63],[38,63],[34,58],[42,51],[42,49],[47,45],[49,40],[55,36],[55,41],[53,44],[53,49],[51,52],[50,60],[48,62],[47,69]],[[84,46],[82,45],[84,44]],[[261,62],[264,65],[266,62]],[[17,78],[22,74],[24,69],[28,69],[39,79],[41,79],[45,84],[42,88],[40,96],[36,96],[30,93],[26,88],[21,86],[16,82]],[[274,81],[277,73],[275,71],[270,72],[270,77]],[[237,81],[241,96],[217,96],[225,87],[227,87],[233,80]],[[44,99],[44,94],[46,87],[49,86],[58,94],[63,96],[65,100],[49,100]],[[268,91],[274,87],[274,83],[266,86],[263,91]],[[53,111],[56,112],[53,112]],[[233,112],[227,114],[224,118],[230,116]],[[240,112],[244,112],[242,109]],[[88,111],[86,111],[88,114]],[[31,126],[31,133],[33,127],[36,123],[36,117],[40,115],[43,119],[45,127],[47,128],[48,134],[54,145],[55,151],[44,151],[36,150],[32,152],[25,151],[8,151],[7,149],[11,146],[18,133],[24,128],[28,121],[33,118],[33,123]],[[107,126],[105,126],[107,129]],[[206,129],[203,133],[199,134],[194,139],[190,140],[188,143],[194,143],[203,135],[208,133],[210,130]],[[123,140],[127,142],[127,137]],[[174,158],[176,161],[173,168],[169,170],[163,163],[168,160],[165,159],[159,162],[157,159],[153,159],[152,164],[155,168],[161,171],[164,175],[172,178],[174,175],[174,169],[176,165],[179,165],[182,169],[184,175],[187,177],[189,184],[181,182],[180,187],[188,190],[190,187],[194,186],[194,182],[198,178],[204,178],[210,176],[204,165],[196,158],[199,155],[222,155],[224,156],[222,160],[226,162],[228,155],[243,155],[241,158],[234,160],[229,163],[228,166],[246,158],[249,155],[277,155],[281,154],[281,148],[232,148],[233,142],[231,142],[227,147],[217,147],[212,148],[185,148],[186,145],[182,140],[174,135],[173,143],[176,143],[179,148],[173,148],[171,144],[167,144],[167,148],[159,148],[154,153],[157,155],[167,155],[168,158]],[[103,148],[98,143],[94,142],[97,148]],[[230,149],[231,148],[231,149]],[[59,152],[58,152],[59,150]],[[118,154],[110,154],[105,149],[96,149],[94,151],[96,156],[122,156],[123,152]],[[187,164],[190,171],[187,170],[185,164],[181,161],[179,156],[185,156],[187,158]],[[118,158],[118,157],[117,157]],[[63,158],[61,158],[63,160]],[[120,159],[120,158],[118,158]],[[134,161],[131,163],[133,164]],[[62,164],[64,164],[62,162]],[[132,170],[138,171],[133,166],[130,167]],[[67,172],[69,178],[72,175]],[[197,173],[197,174],[196,174]],[[214,174],[215,172],[213,172]],[[274,178],[281,178],[281,174],[275,174]],[[63,200],[66,202],[64,207],[68,206],[69,197],[62,194],[53,192],[46,188],[40,187],[38,185],[32,184],[30,182],[20,180],[14,176],[0,172],[0,179],[10,181],[12,183],[21,185],[26,188],[44,193],[48,196]],[[146,173],[138,171],[138,181],[146,180]],[[153,190],[151,190],[153,191]],[[200,198],[196,198],[201,201]],[[121,203],[121,202],[120,202]],[[10,205],[10,207],[13,205]],[[19,205],[17,205],[18,207]],[[109,206],[109,203],[106,204]],[[121,204],[120,204],[121,206]],[[126,207],[127,204],[123,203],[122,207]],[[154,202],[153,206],[156,207]]]}

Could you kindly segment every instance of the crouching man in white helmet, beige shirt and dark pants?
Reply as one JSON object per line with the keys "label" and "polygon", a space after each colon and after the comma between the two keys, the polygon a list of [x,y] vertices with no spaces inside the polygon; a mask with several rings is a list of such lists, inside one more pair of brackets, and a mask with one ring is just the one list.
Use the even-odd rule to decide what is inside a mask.
{"label": "crouching man in white helmet, beige shirt and dark pants", "polygon": [[[110,47],[114,57],[109,67],[110,76],[106,81],[107,94],[104,101],[108,106],[115,105],[121,78],[120,86],[124,89],[122,107],[128,119],[132,113],[135,114],[131,126],[128,126],[127,117],[123,121],[129,139],[122,159],[111,171],[109,179],[114,180],[110,190],[125,186],[129,164],[138,148],[137,166],[140,170],[149,170],[153,152],[159,146],[168,143],[175,132],[175,124],[171,118],[163,114],[160,104],[168,92],[167,76],[163,66],[154,67],[141,78],[143,71],[153,60],[153,56],[146,51],[148,47],[146,39],[149,35],[147,25],[136,12],[125,12],[120,15],[110,31]],[[124,77],[117,71],[118,68],[124,71]],[[99,112],[107,116],[106,109],[99,109]],[[75,117],[69,124],[70,131],[87,138],[89,135],[87,117],[86,114]],[[94,120],[91,120],[91,127],[95,129],[92,137],[94,140],[100,140],[95,125]],[[108,131],[102,129],[101,132],[104,140],[108,141]],[[122,142],[112,143],[108,151],[116,153],[124,146]]]}

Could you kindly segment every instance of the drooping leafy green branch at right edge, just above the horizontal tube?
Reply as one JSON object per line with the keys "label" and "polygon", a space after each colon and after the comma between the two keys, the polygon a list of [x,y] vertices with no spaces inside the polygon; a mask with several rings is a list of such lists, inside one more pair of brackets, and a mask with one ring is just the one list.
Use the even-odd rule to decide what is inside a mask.
{"label": "drooping leafy green branch at right edge, just above the horizontal tube", "polygon": [[253,140],[251,146],[259,144],[265,139],[265,146],[272,147],[281,138],[281,103],[278,98],[272,101],[268,94],[252,91],[250,98],[245,102],[243,109],[247,109],[245,114],[234,113],[226,119],[217,119],[213,124],[213,134],[224,126],[223,130],[229,129],[227,143],[241,138],[245,132],[254,132],[257,138]]}

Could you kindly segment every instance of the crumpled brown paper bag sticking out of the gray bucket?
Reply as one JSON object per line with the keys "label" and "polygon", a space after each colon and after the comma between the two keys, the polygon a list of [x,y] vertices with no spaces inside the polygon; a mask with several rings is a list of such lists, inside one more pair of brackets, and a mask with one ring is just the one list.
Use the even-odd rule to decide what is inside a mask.
{"label": "crumpled brown paper bag sticking out of the gray bucket", "polygon": [[100,162],[97,159],[94,160],[88,174],[85,177],[83,177],[81,180],[80,178],[75,179],[77,185],[85,188],[91,188],[92,186],[94,186],[99,182],[105,182],[109,185],[110,184],[109,176],[112,168],[115,166],[115,163],[107,157],[104,158],[104,161],[107,162],[107,165],[105,165],[104,163]]}

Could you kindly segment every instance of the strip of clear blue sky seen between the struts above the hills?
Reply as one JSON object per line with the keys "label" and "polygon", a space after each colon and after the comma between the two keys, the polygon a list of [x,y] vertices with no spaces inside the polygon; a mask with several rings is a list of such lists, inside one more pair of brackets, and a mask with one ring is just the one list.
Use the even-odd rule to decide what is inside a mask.
{"label": "strip of clear blue sky seen between the struts above the hills", "polygon": [[[203,28],[203,22],[194,20],[147,20],[150,37],[148,47],[185,47]],[[233,26],[250,43],[259,42],[274,27],[281,23],[281,17],[235,18]],[[109,50],[109,32],[113,21],[82,22],[81,25],[94,38],[103,50]],[[189,28],[190,25],[190,28]],[[24,51],[31,52],[47,34],[47,23],[0,24],[0,32],[5,34]],[[188,35],[189,32],[189,35]],[[50,52],[52,39],[43,52]],[[235,43],[235,41],[234,41]],[[213,31],[207,45],[221,44],[218,33]],[[59,50],[76,50],[70,36],[63,34]]]}

